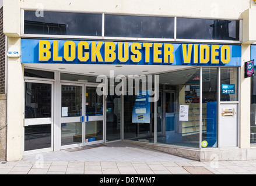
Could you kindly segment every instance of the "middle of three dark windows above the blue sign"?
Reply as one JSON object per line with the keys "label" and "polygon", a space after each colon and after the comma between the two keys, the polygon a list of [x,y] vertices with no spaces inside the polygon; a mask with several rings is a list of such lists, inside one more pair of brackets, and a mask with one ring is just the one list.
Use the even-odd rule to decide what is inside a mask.
{"label": "middle of three dark windows above the blue sign", "polygon": [[105,36],[173,38],[173,17],[105,15]]}

